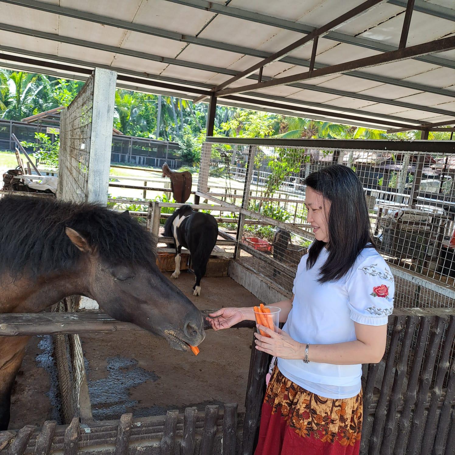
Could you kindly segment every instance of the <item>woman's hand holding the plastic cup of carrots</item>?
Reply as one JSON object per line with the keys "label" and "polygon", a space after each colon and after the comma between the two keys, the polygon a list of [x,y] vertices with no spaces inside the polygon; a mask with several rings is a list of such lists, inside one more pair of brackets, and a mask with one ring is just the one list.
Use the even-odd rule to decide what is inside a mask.
{"label": "woman's hand holding the plastic cup of carrots", "polygon": [[270,335],[270,338],[255,333],[256,349],[281,359],[303,359],[302,344],[292,339],[286,332],[281,329],[274,332],[262,325],[258,325],[258,329]]}

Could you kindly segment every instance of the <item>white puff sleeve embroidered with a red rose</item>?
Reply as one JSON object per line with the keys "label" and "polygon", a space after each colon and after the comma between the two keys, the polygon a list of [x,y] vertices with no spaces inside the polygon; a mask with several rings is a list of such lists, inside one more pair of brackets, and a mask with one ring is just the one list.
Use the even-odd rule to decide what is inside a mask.
{"label": "white puff sleeve embroidered with a red rose", "polygon": [[354,267],[346,281],[350,318],[359,324],[384,325],[394,306],[394,277],[382,257]]}

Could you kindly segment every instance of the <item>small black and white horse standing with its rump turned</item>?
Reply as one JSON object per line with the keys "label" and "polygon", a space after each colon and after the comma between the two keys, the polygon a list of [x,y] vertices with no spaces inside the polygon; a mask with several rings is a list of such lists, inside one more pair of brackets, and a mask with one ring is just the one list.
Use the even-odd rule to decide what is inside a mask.
{"label": "small black and white horse standing with its rump turned", "polygon": [[164,236],[174,239],[175,271],[172,278],[180,275],[180,254],[182,247],[191,254],[196,282],[193,295],[201,294],[201,278],[207,270],[207,262],[218,237],[218,224],[209,213],[196,212],[190,205],[177,209],[164,225]]}

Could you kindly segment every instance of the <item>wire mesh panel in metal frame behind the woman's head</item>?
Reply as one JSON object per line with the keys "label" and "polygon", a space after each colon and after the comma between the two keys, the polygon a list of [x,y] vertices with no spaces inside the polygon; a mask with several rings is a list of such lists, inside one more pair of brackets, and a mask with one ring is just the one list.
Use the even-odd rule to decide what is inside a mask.
{"label": "wire mesh panel in metal frame behind the woman's head", "polygon": [[395,306],[453,307],[455,155],[208,143],[198,190],[242,207],[237,260],[290,293],[313,240],[304,178],[331,164],[363,184],[371,231],[395,280]]}

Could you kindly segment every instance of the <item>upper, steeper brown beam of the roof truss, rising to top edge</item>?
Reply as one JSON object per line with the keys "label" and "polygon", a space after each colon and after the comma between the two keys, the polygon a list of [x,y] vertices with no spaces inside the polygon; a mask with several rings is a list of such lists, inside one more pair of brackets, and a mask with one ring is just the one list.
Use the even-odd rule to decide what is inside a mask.
{"label": "upper, steeper brown beam of the roof truss, rising to top edge", "polygon": [[[278,52],[275,52],[271,56],[267,57],[263,61],[260,61],[256,63],[255,65],[250,66],[248,69],[241,71],[237,76],[234,76],[233,78],[229,79],[228,81],[223,82],[222,84],[219,84],[216,86],[213,91],[217,92],[219,90],[222,90],[224,87],[227,87],[231,85],[233,82],[240,81],[241,79],[250,76],[253,74],[255,71],[257,71],[260,68],[263,68],[266,65],[270,65],[271,63],[280,60],[283,57],[286,57],[288,54],[290,54],[292,51],[295,51],[299,47],[302,47],[305,44],[308,44],[311,40],[322,37],[324,35],[327,35],[330,30],[336,29],[338,27],[341,27],[344,24],[349,23],[351,20],[355,19],[359,15],[365,14],[367,11],[372,10],[376,6],[378,6],[380,3],[384,3],[385,0],[367,0],[364,3],[360,4],[359,6],[356,6],[355,8],[349,10],[348,12],[342,14],[341,16],[337,17],[334,20],[331,20],[327,24],[323,25],[322,27],[319,27],[316,30],[313,30],[312,32],[308,33],[308,35],[303,36],[303,38],[298,39],[297,41],[293,42],[292,44],[286,46],[285,48],[281,49]],[[314,60],[313,63],[310,62],[310,71],[313,69],[314,66]]]}

